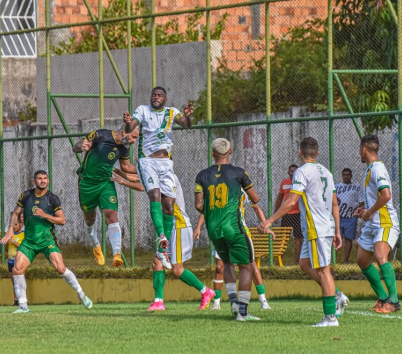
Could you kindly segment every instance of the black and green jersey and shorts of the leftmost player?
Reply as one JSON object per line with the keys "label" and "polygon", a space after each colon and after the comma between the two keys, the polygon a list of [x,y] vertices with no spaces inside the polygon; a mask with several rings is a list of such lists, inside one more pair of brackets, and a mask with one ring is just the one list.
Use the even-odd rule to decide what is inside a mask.
{"label": "black and green jersey and shorts of the leftmost player", "polygon": [[54,224],[33,214],[40,208],[54,216],[57,210],[61,210],[58,196],[49,190],[43,196],[36,196],[35,188],[28,189],[19,196],[17,205],[24,208],[25,223],[25,238],[18,251],[24,253],[31,263],[39,253],[43,253],[48,260],[52,252],[60,253]]}

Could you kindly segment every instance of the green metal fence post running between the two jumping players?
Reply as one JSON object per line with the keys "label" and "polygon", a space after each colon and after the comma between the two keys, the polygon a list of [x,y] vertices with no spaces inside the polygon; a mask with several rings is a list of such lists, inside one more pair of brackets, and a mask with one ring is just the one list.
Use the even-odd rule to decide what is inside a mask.
{"label": "green metal fence post running between the two jumping players", "polygon": [[[131,0],[126,1],[127,16],[131,15]],[[128,81],[128,112],[133,114],[133,78],[131,72],[131,21],[127,21],[127,81]],[[130,162],[133,164],[133,145],[130,146]],[[130,188],[130,254],[131,267],[135,267],[135,231],[134,231],[134,191]]]}

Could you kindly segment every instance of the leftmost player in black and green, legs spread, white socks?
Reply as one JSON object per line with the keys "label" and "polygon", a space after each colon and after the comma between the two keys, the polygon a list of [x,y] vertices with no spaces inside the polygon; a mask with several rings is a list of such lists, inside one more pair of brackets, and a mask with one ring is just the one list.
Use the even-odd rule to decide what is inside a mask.
{"label": "leftmost player in black and green, legs spread, white socks", "polygon": [[47,189],[49,177],[46,171],[36,171],[33,175],[33,183],[35,188],[20,194],[14,212],[11,214],[6,236],[1,239],[1,243],[6,244],[12,238],[12,225],[24,209],[25,238],[17,250],[12,268],[14,289],[19,303],[19,308],[13,313],[29,312],[24,273],[40,253],[46,256],[60,276],[74,289],[83,305],[90,309],[92,301],[83,292],[74,273],[65,267],[58,247],[55,225],[65,224],[60,199]]}

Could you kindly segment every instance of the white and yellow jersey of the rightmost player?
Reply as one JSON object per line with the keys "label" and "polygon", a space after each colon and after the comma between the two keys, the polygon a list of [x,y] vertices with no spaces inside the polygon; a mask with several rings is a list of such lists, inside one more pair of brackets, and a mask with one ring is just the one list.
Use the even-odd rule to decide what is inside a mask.
{"label": "white and yellow jersey of the rightmost player", "polygon": [[384,163],[375,161],[368,165],[363,183],[365,186],[365,208],[367,210],[376,203],[381,189],[389,188],[391,191],[391,199],[383,208],[374,212],[369,221],[366,221],[366,226],[370,228],[399,226],[398,214],[392,203],[391,179]]}

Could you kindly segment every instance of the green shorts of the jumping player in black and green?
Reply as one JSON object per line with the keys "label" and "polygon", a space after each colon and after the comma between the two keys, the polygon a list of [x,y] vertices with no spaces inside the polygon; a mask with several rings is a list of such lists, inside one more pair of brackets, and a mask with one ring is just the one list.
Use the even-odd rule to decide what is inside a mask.
{"label": "green shorts of the jumping player in black and green", "polygon": [[115,183],[112,180],[94,184],[80,179],[78,186],[80,206],[84,212],[90,212],[97,206],[101,209],[119,210]]}

